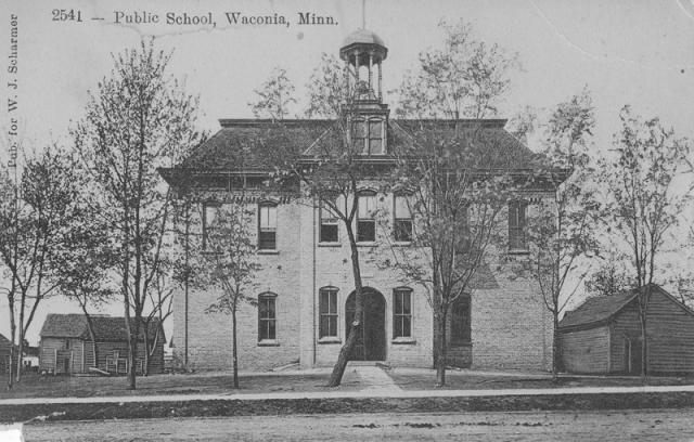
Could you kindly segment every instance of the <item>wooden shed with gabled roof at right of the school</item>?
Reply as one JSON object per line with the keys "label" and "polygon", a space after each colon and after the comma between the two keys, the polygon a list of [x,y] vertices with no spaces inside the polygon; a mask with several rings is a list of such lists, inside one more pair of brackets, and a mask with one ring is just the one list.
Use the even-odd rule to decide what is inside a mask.
{"label": "wooden shed with gabled roof at right of the school", "polygon": [[[694,374],[694,312],[659,286],[646,310],[647,370]],[[645,288],[642,288],[645,289]],[[592,298],[560,322],[563,368],[584,374],[641,374],[637,290]]]}

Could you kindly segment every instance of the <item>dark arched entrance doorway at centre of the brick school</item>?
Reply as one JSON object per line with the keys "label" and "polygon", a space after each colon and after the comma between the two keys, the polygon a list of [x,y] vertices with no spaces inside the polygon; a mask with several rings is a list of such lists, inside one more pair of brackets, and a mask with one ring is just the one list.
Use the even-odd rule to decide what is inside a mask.
{"label": "dark arched entrance doorway at centre of the brick school", "polygon": [[[357,343],[350,361],[385,361],[386,360],[386,300],[378,290],[371,287],[363,288],[363,306],[361,334],[357,337]],[[355,322],[355,302],[357,292],[352,291],[347,298],[346,327],[347,335],[351,332]]]}

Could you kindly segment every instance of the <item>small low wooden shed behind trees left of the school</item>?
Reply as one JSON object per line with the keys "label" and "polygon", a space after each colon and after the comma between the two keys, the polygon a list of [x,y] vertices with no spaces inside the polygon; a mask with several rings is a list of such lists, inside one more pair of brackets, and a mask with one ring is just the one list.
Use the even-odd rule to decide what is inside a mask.
{"label": "small low wooden shed behind trees left of the school", "polygon": [[[49,314],[41,328],[39,369],[53,374],[89,373],[89,367],[110,373],[125,373],[128,358],[128,334],[125,317],[92,316],[99,361],[94,351],[87,317],[82,314]],[[166,337],[158,318],[149,329],[149,340],[156,346],[150,362],[150,374],[164,372]],[[140,328],[137,361],[141,372],[145,361],[144,330]]]}

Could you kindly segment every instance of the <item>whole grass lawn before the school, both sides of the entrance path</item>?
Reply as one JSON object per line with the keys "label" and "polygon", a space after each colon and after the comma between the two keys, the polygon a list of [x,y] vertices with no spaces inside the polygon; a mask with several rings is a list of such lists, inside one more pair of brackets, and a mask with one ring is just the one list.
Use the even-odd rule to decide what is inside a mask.
{"label": "whole grass lawn before the school, both sides of the entrance path", "polygon": [[[436,372],[433,369],[399,368],[387,370],[402,390],[435,390]],[[241,388],[234,390],[232,376],[228,373],[196,373],[185,375],[153,375],[138,377],[137,390],[125,389],[126,378],[119,377],[67,377],[40,376],[31,373],[7,390],[7,376],[0,376],[0,399],[18,398],[89,398],[116,395],[160,394],[243,394],[271,392],[320,392],[360,391],[363,385],[359,375],[349,367],[343,384],[336,389],[325,387],[330,370],[288,372],[258,375],[242,375]],[[500,389],[551,389],[565,387],[634,387],[641,386],[638,377],[562,377],[553,385],[548,375],[527,375],[466,370],[447,370],[444,390],[500,390]],[[694,385],[694,378],[651,377],[652,386]]]}

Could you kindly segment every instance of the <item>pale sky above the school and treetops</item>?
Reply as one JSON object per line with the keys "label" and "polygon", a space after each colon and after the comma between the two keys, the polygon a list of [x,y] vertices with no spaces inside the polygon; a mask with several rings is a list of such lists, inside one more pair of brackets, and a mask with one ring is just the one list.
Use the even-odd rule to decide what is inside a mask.
{"label": "pale sky above the school and treetops", "polygon": [[[66,8],[66,20],[56,6]],[[230,24],[233,13],[240,20],[283,17],[288,25]],[[299,13],[332,17],[334,24],[300,25]],[[211,24],[167,23],[184,15]],[[139,47],[144,37],[154,36],[157,48],[172,51],[168,73],[185,78],[187,90],[200,95],[200,128],[214,133],[220,118],[253,117],[254,89],[275,66],[288,69],[300,94],[321,54],[337,55],[364,16],[365,27],[388,48],[386,91],[400,86],[421,52],[440,47],[441,20],[462,20],[472,25],[475,39],[517,53],[523,65],[512,75],[500,118],[512,118],[525,106],[554,106],[587,87],[595,106],[596,148],[611,148],[626,104],[643,117],[659,117],[679,136],[694,135],[694,0],[4,1],[0,90],[3,102],[16,106],[2,109],[0,160],[9,158],[13,120],[27,150],[69,145],[70,125],[83,117],[90,91],[110,76],[113,55]],[[395,103],[396,96],[386,93],[384,101]],[[38,342],[48,312],[79,309],[47,301],[29,329],[30,343]],[[117,306],[110,313],[120,312]],[[8,322],[2,296],[0,334],[5,336]]]}

